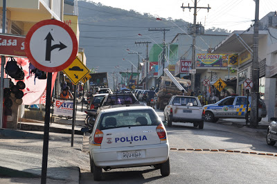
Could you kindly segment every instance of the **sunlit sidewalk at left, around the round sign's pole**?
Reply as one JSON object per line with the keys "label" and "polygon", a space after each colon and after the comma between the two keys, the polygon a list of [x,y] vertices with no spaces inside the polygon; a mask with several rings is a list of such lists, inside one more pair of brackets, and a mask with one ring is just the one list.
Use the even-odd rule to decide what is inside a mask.
{"label": "sunlit sidewalk at left, around the round sign's pole", "polygon": [[[85,107],[81,112],[81,104],[78,104],[74,128],[74,147],[70,147],[72,119],[57,118],[50,124],[47,183],[79,183],[80,165],[74,164],[77,159],[76,153],[79,154],[79,158],[89,158],[82,152],[83,133],[80,129],[84,127],[84,118],[86,117],[84,110]],[[37,149],[42,149],[44,122],[19,122],[18,125],[20,129],[17,130],[0,129],[0,183],[40,183],[42,152],[31,153],[26,147],[35,145]],[[6,147],[15,142],[17,143],[15,149],[19,150]],[[22,144],[18,144],[18,142],[22,142]],[[73,158],[74,161],[67,162],[62,155],[60,159],[59,154],[51,156],[51,150],[56,149],[62,151],[64,156],[68,156],[69,160]],[[79,162],[89,161],[80,160]],[[78,163],[78,161],[75,162]]]}

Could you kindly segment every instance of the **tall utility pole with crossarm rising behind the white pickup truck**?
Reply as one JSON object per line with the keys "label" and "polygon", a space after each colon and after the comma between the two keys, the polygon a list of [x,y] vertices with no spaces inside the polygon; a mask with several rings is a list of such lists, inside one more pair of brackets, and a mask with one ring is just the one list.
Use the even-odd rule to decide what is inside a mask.
{"label": "tall utility pole with crossarm rising behind the white pickup truck", "polygon": [[[197,7],[197,0],[195,0],[195,6],[190,7],[190,4],[188,6],[183,6],[182,4],[181,8],[183,8],[183,11],[185,8],[188,8],[188,10],[191,10],[191,8],[194,8],[194,18],[193,18],[193,54],[191,58],[191,64],[193,70],[195,70],[195,38],[196,38],[196,15],[197,15],[197,9],[211,9],[209,6],[208,7]],[[190,84],[190,89],[195,92],[195,73],[191,73],[191,84]]]}

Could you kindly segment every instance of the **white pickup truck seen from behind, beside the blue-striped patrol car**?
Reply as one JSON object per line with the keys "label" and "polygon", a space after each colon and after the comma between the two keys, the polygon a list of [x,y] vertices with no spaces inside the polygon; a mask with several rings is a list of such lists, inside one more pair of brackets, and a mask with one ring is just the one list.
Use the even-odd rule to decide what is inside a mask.
{"label": "white pickup truck seen from behind, beside the blue-striped patrol car", "polygon": [[199,129],[204,127],[205,111],[197,97],[173,95],[163,114],[168,127],[172,126],[172,122],[191,122]]}

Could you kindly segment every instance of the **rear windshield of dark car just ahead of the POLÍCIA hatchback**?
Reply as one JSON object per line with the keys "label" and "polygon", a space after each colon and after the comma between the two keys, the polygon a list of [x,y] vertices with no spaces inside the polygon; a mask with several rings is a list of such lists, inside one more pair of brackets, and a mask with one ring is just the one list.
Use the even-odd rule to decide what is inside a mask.
{"label": "rear windshield of dark car just ahead of the POL\u00cdCIA hatchback", "polygon": [[106,105],[116,105],[116,104],[134,104],[136,103],[136,98],[134,95],[109,95],[107,98]]}

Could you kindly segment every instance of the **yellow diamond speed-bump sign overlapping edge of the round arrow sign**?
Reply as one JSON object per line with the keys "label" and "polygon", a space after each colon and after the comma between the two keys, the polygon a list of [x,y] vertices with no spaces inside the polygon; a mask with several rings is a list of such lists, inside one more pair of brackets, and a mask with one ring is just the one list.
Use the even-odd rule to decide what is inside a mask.
{"label": "yellow diamond speed-bump sign overlapping edge of the round arrow sign", "polygon": [[67,75],[67,77],[69,77],[73,84],[78,84],[78,82],[89,73],[89,69],[80,61],[78,57],[76,57],[71,65],[65,68],[63,72]]}

